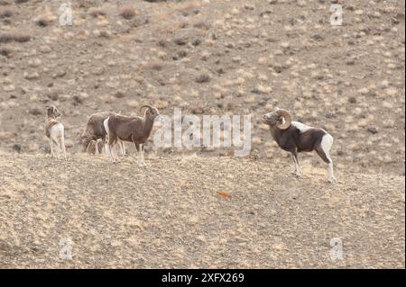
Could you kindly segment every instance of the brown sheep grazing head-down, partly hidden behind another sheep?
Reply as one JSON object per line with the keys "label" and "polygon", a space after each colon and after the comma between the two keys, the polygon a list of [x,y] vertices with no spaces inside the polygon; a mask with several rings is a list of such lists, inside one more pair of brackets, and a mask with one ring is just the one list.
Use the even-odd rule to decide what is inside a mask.
{"label": "brown sheep grazing head-down, partly hidden behind another sheep", "polygon": [[[80,143],[82,145],[83,152],[88,152],[90,146],[95,144],[95,153],[98,155],[98,143],[101,141],[103,145],[106,144],[107,133],[104,126],[104,121],[112,115],[115,115],[115,112],[97,112],[88,118],[86,129],[80,136]],[[124,142],[119,140],[117,143],[121,150],[121,155],[125,156]]]}

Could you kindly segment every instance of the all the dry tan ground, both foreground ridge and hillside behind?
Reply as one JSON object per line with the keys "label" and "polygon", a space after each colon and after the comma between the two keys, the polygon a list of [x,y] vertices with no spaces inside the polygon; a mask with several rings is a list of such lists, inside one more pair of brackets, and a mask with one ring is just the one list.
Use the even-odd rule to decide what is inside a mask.
{"label": "all the dry tan ground, both foreground ridge and hillside behind", "polygon": [[[67,2],[0,0],[0,267],[404,268],[404,1],[78,0],[63,26]],[[90,114],[145,103],[251,115],[250,157],[78,152]],[[48,157],[49,104],[67,162]],[[315,155],[290,174],[260,122],[275,106],[333,135],[336,184]]]}

